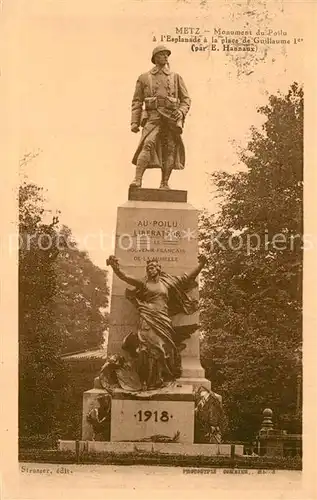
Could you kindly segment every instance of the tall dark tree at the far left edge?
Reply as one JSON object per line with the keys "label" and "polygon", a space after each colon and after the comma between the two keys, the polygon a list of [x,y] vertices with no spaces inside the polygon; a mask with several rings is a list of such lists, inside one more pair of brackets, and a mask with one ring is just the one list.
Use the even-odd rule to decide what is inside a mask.
{"label": "tall dark tree at the far left edge", "polygon": [[19,427],[20,434],[49,433],[63,388],[60,332],[54,318],[58,255],[57,218],[44,217],[43,190],[19,189]]}

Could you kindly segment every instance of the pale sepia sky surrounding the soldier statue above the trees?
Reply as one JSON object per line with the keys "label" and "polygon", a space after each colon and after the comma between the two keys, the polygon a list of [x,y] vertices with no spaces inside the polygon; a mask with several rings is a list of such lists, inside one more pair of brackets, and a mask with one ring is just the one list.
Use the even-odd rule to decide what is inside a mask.
{"label": "pale sepia sky surrounding the soldier statue above the trees", "polygon": [[[208,30],[282,30],[302,43],[262,45],[256,54],[193,52],[168,43],[170,65],[192,99],[184,130],[186,167],[171,187],[188,191],[195,207],[213,211],[208,174],[241,168],[237,151],[250,127],[263,121],[257,108],[268,96],[303,81],[307,9],[301,2],[130,2],[28,0],[15,11],[12,52],[19,157],[36,156],[21,169],[47,190],[80,248],[100,267],[113,253],[118,205],[134,177],[131,159],[139,136],[130,131],[137,77],[148,71],[161,34],[180,26]],[[12,84],[13,85],[13,84]],[[146,172],[157,187],[159,171]],[[103,234],[100,244],[100,233]],[[89,235],[87,237],[87,235]],[[92,235],[92,236],[91,236]]]}

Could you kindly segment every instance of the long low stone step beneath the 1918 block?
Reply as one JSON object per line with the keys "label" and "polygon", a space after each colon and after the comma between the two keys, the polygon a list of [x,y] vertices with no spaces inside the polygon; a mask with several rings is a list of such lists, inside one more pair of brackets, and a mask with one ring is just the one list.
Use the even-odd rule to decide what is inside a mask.
{"label": "long low stone step beneath the 1918 block", "polygon": [[[79,441],[79,452],[87,453],[137,453],[148,452],[164,455],[187,455],[187,456],[232,456],[232,447],[234,455],[243,455],[242,444],[184,444],[184,443],[144,443],[144,442],[124,442],[114,443],[107,441]],[[58,448],[61,451],[76,451],[76,441],[60,440]]]}

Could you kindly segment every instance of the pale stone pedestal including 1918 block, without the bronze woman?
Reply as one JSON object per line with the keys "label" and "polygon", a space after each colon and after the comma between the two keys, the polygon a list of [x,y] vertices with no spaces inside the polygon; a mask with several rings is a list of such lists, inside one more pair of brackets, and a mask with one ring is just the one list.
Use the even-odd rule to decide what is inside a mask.
{"label": "pale stone pedestal including 1918 block, without the bronze woman", "polygon": [[[198,264],[198,211],[187,203],[187,192],[130,188],[129,200],[118,207],[115,256],[124,272],[137,278],[144,277],[147,259],[154,257],[168,274],[180,276],[191,272]],[[126,356],[122,341],[127,334],[137,331],[138,312],[127,300],[126,288],[130,287],[113,275],[108,356]],[[198,287],[189,294],[198,299]],[[177,314],[172,321],[175,327],[194,331],[181,352],[181,377],[171,386],[152,393],[133,395],[121,389],[113,391],[110,422],[113,446],[162,440],[162,446],[166,443],[196,446],[194,393],[200,386],[210,389],[200,363],[199,312]],[[94,435],[87,415],[98,407],[98,396],[105,394],[97,382],[98,379],[94,389],[84,393],[82,440],[88,442]]]}

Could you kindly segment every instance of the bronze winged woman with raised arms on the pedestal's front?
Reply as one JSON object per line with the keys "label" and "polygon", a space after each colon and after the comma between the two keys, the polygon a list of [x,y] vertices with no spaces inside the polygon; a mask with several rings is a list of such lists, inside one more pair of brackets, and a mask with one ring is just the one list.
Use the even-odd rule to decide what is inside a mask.
{"label": "bronze winged woman with raised arms on the pedestal's front", "polygon": [[[206,258],[200,256],[199,265],[192,272],[172,276],[161,270],[156,259],[148,260],[146,277],[138,279],[125,274],[114,256],[107,260],[120,279],[134,286],[126,295],[139,312],[137,333],[127,335],[122,346],[134,360],[137,377],[127,376],[131,366],[128,367],[123,358],[111,359],[111,366],[117,366],[125,388],[129,389],[130,385],[131,390],[155,389],[180,376],[180,351],[185,346],[182,341],[198,325],[193,325],[192,331],[175,328],[172,316],[180,312],[193,314],[197,310],[198,301],[190,298],[187,292],[197,286],[195,278],[205,262]],[[109,368],[110,365],[106,363],[105,366]]]}

